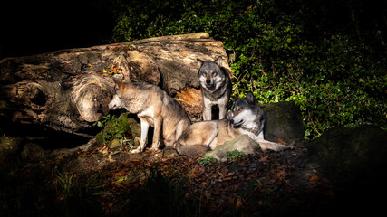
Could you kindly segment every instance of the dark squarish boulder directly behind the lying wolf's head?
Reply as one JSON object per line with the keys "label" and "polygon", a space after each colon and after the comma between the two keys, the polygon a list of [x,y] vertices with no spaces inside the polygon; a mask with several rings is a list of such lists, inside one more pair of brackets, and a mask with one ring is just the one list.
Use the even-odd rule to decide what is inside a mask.
{"label": "dark squarish boulder directly behind the lying wolf's head", "polygon": [[272,142],[299,144],[304,141],[304,124],[300,109],[293,101],[262,106],[266,116],[265,138]]}

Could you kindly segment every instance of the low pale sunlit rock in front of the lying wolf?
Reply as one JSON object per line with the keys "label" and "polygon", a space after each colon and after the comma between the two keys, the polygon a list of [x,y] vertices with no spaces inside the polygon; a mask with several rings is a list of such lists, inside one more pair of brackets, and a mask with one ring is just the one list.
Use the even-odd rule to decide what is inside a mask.
{"label": "low pale sunlit rock in front of the lying wolf", "polygon": [[256,152],[260,150],[260,146],[247,135],[241,135],[231,141],[225,142],[214,150],[207,152],[203,157],[214,157],[219,161],[226,161],[227,152],[234,150],[243,152],[245,155],[256,154]]}

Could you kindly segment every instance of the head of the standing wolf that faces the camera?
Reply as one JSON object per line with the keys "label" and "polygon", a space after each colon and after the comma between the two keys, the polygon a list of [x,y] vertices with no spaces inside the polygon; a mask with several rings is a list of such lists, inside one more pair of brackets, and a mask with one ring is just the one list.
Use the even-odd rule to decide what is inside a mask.
{"label": "head of the standing wolf that faces the camera", "polygon": [[198,59],[198,81],[201,87],[213,91],[218,90],[225,80],[225,73],[221,70],[222,57],[216,61],[202,61]]}

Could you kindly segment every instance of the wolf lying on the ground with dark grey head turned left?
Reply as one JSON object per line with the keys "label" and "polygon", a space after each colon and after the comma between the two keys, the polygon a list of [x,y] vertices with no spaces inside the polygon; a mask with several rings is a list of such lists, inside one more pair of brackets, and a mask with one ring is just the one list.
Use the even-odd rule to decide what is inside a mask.
{"label": "wolf lying on the ground with dark grey head turned left", "polygon": [[265,140],[265,122],[263,110],[248,92],[245,99],[237,99],[227,119],[201,121],[187,127],[175,148],[181,155],[203,154],[243,134],[255,140],[264,151],[290,148]]}

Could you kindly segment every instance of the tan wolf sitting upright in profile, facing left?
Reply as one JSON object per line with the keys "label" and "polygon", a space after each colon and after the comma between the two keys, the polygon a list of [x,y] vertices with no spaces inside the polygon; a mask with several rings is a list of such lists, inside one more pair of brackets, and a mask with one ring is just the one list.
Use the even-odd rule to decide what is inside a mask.
{"label": "tan wolf sitting upright in profile, facing left", "polygon": [[140,146],[132,153],[144,151],[149,127],[154,128],[152,150],[159,150],[160,137],[165,146],[174,145],[184,129],[189,127],[190,120],[185,110],[158,86],[143,81],[114,82],[115,93],[109,109],[124,108],[140,118]]}

